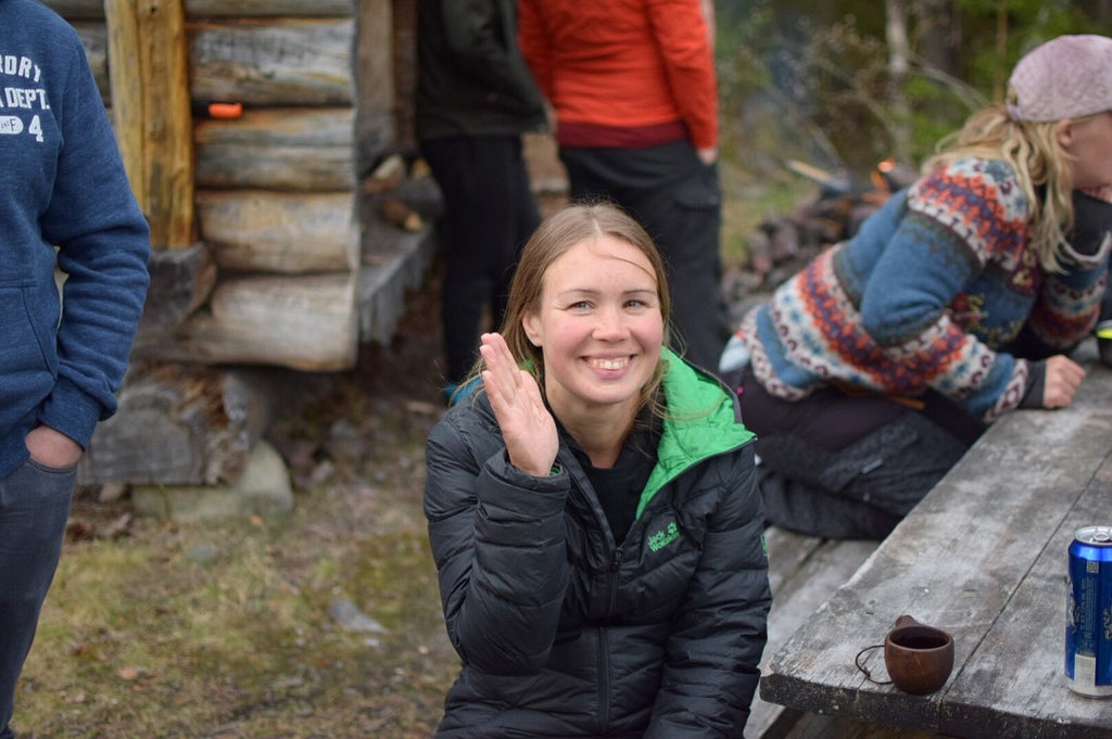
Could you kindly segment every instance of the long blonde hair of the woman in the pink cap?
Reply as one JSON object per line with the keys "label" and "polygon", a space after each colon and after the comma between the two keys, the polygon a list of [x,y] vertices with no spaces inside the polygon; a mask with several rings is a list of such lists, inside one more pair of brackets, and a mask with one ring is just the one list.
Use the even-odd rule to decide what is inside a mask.
{"label": "long blonde hair of the woman in the pink cap", "polygon": [[[1095,116],[1079,118],[1084,122]],[[924,171],[963,157],[1002,159],[1015,171],[1023,193],[1031,203],[1027,219],[1031,242],[1040,266],[1049,272],[1062,272],[1066,263],[1079,260],[1066,241],[1073,228],[1073,170],[1071,156],[1062,148],[1055,128],[1060,121],[1019,121],[1007,114],[1004,104],[990,106],[974,113],[961,130],[940,143],[940,152],[923,166]]]}

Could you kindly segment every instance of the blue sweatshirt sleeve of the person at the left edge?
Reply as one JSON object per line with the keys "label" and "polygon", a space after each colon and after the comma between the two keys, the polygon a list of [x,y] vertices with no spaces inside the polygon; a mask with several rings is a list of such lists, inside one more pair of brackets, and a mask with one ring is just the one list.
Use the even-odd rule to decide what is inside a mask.
{"label": "blue sweatshirt sleeve of the person at the left edge", "polygon": [[62,136],[54,189],[42,214],[66,274],[58,329],[59,373],[40,420],[88,446],[116,410],[149,282],[150,232],[123,171],[108,114],[77,34],[56,96]]}

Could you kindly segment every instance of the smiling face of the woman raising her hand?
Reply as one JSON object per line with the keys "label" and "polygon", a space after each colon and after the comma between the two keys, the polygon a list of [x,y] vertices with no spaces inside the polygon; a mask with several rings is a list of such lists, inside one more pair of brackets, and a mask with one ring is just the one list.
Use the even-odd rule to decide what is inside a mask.
{"label": "smiling face of the woman raising her hand", "polygon": [[522,323],[544,353],[557,416],[623,403],[633,412],[664,342],[652,263],[608,236],[580,241],[548,267],[539,310]]}

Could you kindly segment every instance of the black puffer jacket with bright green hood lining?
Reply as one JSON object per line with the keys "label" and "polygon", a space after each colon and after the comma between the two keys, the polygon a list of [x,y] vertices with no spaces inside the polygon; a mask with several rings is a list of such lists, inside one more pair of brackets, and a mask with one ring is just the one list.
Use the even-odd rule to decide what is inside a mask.
{"label": "black puffer jacket with bright green hood lining", "polygon": [[485,395],[429,437],[425,512],[463,670],[438,737],[741,737],[771,602],[752,435],[666,354],[668,419],[620,545],[572,451],[509,466]]}

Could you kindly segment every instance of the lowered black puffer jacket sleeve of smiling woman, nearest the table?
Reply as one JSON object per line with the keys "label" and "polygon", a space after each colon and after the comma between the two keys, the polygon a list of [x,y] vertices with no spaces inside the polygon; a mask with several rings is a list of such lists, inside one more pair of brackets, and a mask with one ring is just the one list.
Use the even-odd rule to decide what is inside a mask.
{"label": "lowered black puffer jacket sleeve of smiling woman, nearest the table", "polygon": [[753,445],[723,461],[703,557],[667,645],[645,739],[741,737],[767,640],[768,558]]}

